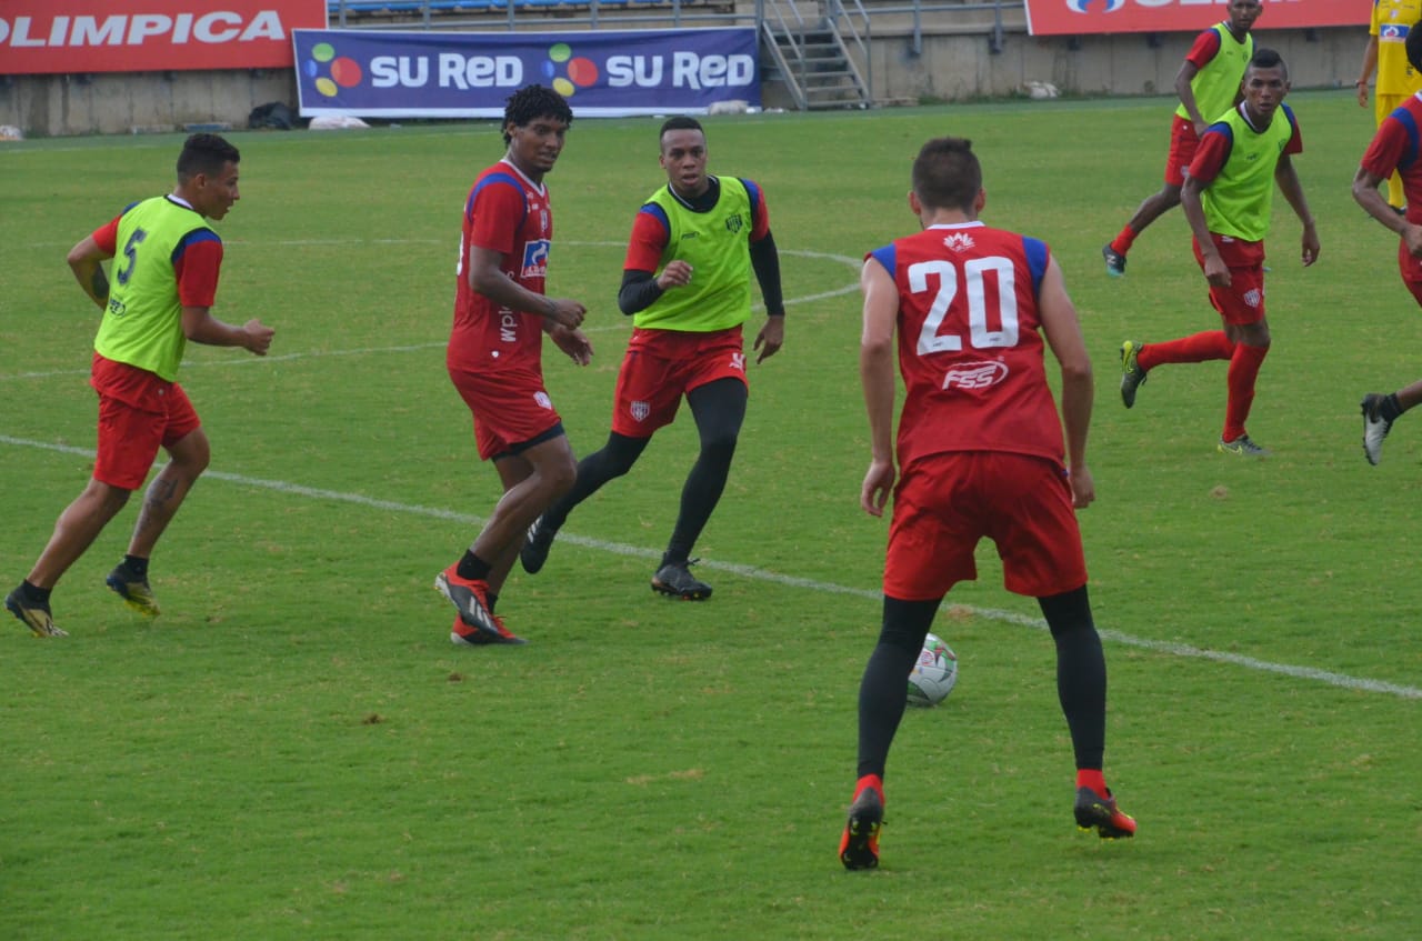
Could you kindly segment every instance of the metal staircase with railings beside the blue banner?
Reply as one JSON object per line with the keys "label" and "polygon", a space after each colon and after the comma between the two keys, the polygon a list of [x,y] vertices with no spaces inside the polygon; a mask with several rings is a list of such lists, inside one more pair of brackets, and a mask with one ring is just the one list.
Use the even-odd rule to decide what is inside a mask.
{"label": "metal staircase with railings beside the blue banner", "polygon": [[[761,43],[766,81],[779,80],[801,111],[869,108],[869,14],[859,0],[762,0]],[[848,40],[848,41],[846,41]],[[856,61],[857,57],[857,61]],[[860,71],[859,63],[863,63]]]}

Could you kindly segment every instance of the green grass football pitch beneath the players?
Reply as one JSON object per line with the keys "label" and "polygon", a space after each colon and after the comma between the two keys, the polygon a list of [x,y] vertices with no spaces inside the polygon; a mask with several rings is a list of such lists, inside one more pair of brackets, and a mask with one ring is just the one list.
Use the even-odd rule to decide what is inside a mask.
{"label": "green grass football pitch beneath the players", "polygon": [[[712,172],[766,190],[791,299],[698,546],[715,597],[647,584],[684,416],[542,574],[510,579],[499,610],[530,644],[505,650],[452,647],[429,587],[498,496],[444,371],[459,208],[498,129],[232,135],[216,313],[276,343],[189,348],[213,463],[154,560],[165,614],[135,620],[102,584],[129,506],[54,594],[68,640],[3,618],[0,938],[1416,938],[1422,422],[1369,468],[1358,399],[1422,374],[1422,317],[1348,193],[1371,111],[1291,104],[1322,253],[1298,264],[1277,199],[1250,421],[1267,462],[1214,453],[1223,364],[1158,370],[1129,412],[1116,395],[1122,340],[1217,324],[1179,212],[1126,279],[1101,263],[1159,186],[1166,100],[707,121]],[[546,364],[579,453],[607,432],[656,128],[580,119],[549,178],[550,291],[584,300],[597,348]],[[910,162],[939,134],[974,141],[987,222],[1052,246],[1095,357],[1082,526],[1106,773],[1140,832],[1072,824],[1052,647],[984,546],[934,627],[958,687],[906,716],[883,867],[848,874],[886,539],[857,507],[857,266],[914,227]],[[90,475],[97,311],[64,253],[166,192],[179,142],[0,149],[0,590]]]}

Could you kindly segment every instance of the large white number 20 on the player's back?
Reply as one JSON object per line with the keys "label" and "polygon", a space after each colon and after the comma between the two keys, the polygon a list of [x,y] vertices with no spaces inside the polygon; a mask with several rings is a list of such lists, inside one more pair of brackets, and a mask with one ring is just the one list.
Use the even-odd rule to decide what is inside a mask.
{"label": "large white number 20 on the player's back", "polygon": [[[997,316],[990,317],[984,280],[997,280]],[[937,287],[931,287],[931,281]],[[967,301],[968,343],[974,350],[1017,345],[1017,281],[1012,262],[1003,256],[968,259],[963,263],[963,297],[958,297],[958,266],[941,259],[917,262],[909,266],[909,290],[914,294],[934,291],[929,317],[919,331],[919,355],[930,353],[954,353],[963,348],[963,337],[957,333],[939,333],[950,313],[960,311]],[[954,320],[961,320],[956,317]],[[997,328],[991,321],[997,321]],[[951,326],[951,323],[950,323]]]}

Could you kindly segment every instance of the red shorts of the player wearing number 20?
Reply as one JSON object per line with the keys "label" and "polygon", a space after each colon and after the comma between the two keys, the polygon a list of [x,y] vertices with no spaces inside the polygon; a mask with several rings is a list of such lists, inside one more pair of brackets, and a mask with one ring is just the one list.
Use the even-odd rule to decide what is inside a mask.
{"label": "red shorts of the player wearing number 20", "polygon": [[977,579],[973,552],[997,543],[1003,584],[1035,598],[1086,584],[1071,483],[1055,461],[995,451],[930,455],[894,488],[884,594],[941,598]]}

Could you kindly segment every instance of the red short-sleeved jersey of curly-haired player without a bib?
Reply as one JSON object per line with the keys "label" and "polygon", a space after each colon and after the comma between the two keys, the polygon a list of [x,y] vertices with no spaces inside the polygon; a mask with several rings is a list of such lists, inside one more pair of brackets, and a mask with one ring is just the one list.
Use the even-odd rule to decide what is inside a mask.
{"label": "red short-sleeved jersey of curly-haired player without a bib", "polygon": [[509,310],[469,284],[475,247],[503,256],[501,270],[535,294],[543,294],[553,244],[553,209],[547,188],[508,161],[474,181],[464,205],[454,330],[447,362],[472,371],[542,368],[543,317]]}

